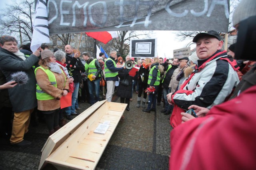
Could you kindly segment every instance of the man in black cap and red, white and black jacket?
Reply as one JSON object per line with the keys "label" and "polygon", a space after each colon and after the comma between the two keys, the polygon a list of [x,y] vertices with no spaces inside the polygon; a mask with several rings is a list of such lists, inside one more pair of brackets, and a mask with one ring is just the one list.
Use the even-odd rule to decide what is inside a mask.
{"label": "man in black cap and red, white and black jacket", "polygon": [[221,51],[223,41],[216,31],[199,33],[193,39],[199,60],[196,70],[182,84],[180,90],[167,95],[174,104],[170,117],[172,127],[181,123],[181,112],[191,105],[211,108],[221,104],[239,83],[239,68],[226,51]]}

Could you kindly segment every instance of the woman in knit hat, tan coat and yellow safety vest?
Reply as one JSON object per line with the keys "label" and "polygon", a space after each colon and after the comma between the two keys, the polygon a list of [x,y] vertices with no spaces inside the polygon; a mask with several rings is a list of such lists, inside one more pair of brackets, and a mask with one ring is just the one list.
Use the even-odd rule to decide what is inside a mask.
{"label": "woman in knit hat, tan coat and yellow safety vest", "polygon": [[44,114],[49,135],[59,127],[60,98],[68,94],[69,83],[66,74],[56,64],[54,54],[50,50],[41,52],[39,67],[36,68],[36,98],[38,110]]}

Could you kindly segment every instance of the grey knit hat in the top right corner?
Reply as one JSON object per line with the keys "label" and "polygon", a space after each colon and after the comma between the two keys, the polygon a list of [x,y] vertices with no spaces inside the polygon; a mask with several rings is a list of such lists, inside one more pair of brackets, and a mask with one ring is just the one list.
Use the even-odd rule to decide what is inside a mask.
{"label": "grey knit hat in the top right corner", "polygon": [[251,16],[256,15],[256,0],[242,0],[234,10],[233,26]]}

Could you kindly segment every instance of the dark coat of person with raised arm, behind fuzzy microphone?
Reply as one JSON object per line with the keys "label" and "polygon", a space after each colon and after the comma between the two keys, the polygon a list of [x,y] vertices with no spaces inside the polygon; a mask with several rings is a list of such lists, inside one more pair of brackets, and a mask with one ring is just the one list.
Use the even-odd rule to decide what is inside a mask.
{"label": "dark coat of person with raised arm, behind fuzzy microphone", "polygon": [[24,71],[28,75],[26,84],[9,88],[9,97],[14,112],[21,112],[33,109],[37,106],[36,100],[36,76],[32,66],[38,62],[36,55],[30,55],[28,59],[22,60],[10,51],[0,47],[0,69],[6,81],[11,81],[11,74],[17,71]]}

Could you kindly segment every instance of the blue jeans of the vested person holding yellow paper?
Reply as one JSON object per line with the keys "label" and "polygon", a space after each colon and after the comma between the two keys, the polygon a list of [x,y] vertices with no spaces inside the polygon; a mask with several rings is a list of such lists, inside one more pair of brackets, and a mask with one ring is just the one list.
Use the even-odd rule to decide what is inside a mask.
{"label": "blue jeans of the vested person holding yellow paper", "polygon": [[[93,81],[88,80],[87,82],[90,94],[90,104],[93,105],[100,100],[100,79]],[[95,92],[95,98],[93,92]]]}

